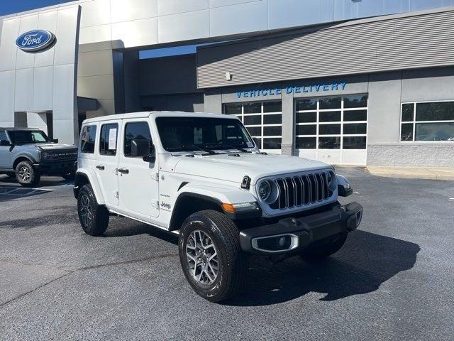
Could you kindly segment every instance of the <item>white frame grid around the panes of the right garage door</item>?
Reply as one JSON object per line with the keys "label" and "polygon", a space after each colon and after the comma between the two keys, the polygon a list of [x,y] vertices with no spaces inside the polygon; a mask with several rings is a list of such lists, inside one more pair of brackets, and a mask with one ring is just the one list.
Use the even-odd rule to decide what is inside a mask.
{"label": "white frame grid around the panes of the right garage door", "polygon": [[[348,96],[367,96],[367,107],[356,107],[356,108],[345,108],[344,107],[344,99]],[[341,97],[341,107],[336,109],[320,109],[320,100],[325,99],[328,97]],[[316,100],[316,109],[309,109],[309,110],[297,110],[297,102],[299,99],[315,99]],[[353,112],[353,111],[365,111],[366,112],[366,119],[362,121],[345,121],[344,120],[344,112]],[[304,113],[316,113],[316,121],[314,122],[298,122],[297,116],[298,114]],[[341,120],[340,121],[320,121],[320,113],[324,112],[341,112]],[[295,126],[295,134],[294,134],[294,145],[295,149],[299,151],[367,151],[367,133],[369,131],[369,94],[361,93],[361,94],[339,94],[334,96],[319,96],[319,97],[297,97],[294,99],[294,126]],[[329,124],[338,124],[341,126],[340,134],[320,134],[320,126],[329,125]],[[366,132],[365,134],[344,134],[344,125],[345,124],[366,124]],[[316,126],[316,134],[311,135],[301,135],[297,134],[297,126]],[[333,138],[338,137],[341,139],[341,144],[339,148],[319,148],[320,146],[320,138]],[[344,137],[365,137],[365,148],[343,148],[343,139]],[[316,139],[316,148],[299,148],[297,146],[297,139],[298,138],[315,138]]]}

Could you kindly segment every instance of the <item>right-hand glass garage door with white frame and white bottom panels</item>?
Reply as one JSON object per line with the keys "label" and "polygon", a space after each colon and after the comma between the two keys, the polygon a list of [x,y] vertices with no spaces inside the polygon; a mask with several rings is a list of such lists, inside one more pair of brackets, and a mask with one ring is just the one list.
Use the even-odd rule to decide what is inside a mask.
{"label": "right-hand glass garage door with white frame and white bottom panels", "polygon": [[299,156],[326,163],[365,165],[367,94],[295,101]]}

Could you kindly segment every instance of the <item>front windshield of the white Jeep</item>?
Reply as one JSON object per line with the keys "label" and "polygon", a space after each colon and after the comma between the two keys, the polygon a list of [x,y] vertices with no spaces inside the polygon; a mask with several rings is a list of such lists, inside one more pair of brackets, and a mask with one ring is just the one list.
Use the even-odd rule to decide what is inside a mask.
{"label": "front windshield of the white Jeep", "polygon": [[166,151],[206,151],[253,148],[253,139],[238,119],[157,117]]}

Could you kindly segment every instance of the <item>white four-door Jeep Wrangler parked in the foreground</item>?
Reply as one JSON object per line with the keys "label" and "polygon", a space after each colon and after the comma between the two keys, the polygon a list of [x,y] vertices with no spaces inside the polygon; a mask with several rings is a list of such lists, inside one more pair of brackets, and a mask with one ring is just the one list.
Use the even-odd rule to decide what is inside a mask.
{"label": "white four-door Jeep Wrangler parked in the foreground", "polygon": [[99,236],[109,215],[179,234],[194,291],[234,296],[248,254],[328,256],[360,224],[362,207],[334,168],[261,153],[241,121],[223,114],[140,112],[82,124],[74,183],[79,220]]}

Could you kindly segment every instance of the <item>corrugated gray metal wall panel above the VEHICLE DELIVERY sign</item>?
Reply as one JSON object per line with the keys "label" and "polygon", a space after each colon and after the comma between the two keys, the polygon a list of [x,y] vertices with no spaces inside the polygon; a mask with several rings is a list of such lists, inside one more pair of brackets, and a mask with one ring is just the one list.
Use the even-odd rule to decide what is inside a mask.
{"label": "corrugated gray metal wall panel above the VEHICLE DELIVERY sign", "polygon": [[[199,48],[199,88],[454,65],[454,11]],[[233,74],[226,80],[226,72]]]}

